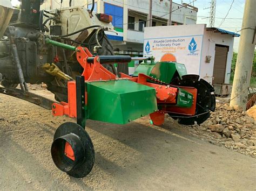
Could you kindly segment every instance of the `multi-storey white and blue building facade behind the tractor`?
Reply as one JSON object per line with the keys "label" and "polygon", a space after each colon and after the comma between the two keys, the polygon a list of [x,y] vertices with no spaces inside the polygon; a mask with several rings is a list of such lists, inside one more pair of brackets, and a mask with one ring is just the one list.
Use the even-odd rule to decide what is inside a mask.
{"label": "multi-storey white and blue building facade behind the tractor", "polygon": [[[116,54],[143,55],[144,27],[149,25],[149,0],[95,0],[94,11],[113,17],[112,24],[117,33],[106,32]],[[63,1],[62,7],[69,6]],[[71,6],[90,9],[92,0],[73,0]],[[42,9],[58,9],[60,0],[45,0]],[[197,8],[172,3],[172,25],[196,24]],[[167,25],[170,12],[169,0],[153,0],[152,26]]]}

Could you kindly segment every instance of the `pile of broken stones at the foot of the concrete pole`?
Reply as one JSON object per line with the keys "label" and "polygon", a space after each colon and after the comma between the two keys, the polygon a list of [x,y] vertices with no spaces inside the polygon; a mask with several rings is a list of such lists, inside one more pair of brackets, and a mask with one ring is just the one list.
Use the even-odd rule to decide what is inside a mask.
{"label": "pile of broken stones at the foot of the concrete pole", "polygon": [[192,128],[197,136],[210,138],[213,144],[256,157],[256,121],[239,107],[217,105],[207,121]]}

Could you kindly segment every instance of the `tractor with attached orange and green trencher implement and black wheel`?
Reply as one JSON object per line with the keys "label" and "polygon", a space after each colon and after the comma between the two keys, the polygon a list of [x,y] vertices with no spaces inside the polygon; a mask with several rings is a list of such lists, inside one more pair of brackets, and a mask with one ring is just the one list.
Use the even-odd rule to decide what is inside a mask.
{"label": "tractor with attached orange and green trencher implement and black wheel", "polygon": [[[95,150],[87,119],[122,125],[149,115],[162,125],[169,115],[193,125],[215,110],[211,84],[187,74],[183,63],[114,55],[105,35],[114,32],[111,16],[93,7],[40,10],[41,3],[22,0],[15,10],[9,1],[0,3],[0,93],[77,119],[60,125],[53,137],[51,155],[61,171],[75,178],[91,172]],[[133,75],[117,74],[113,64],[131,60],[143,63]],[[56,101],[28,91],[26,83],[42,82]]]}

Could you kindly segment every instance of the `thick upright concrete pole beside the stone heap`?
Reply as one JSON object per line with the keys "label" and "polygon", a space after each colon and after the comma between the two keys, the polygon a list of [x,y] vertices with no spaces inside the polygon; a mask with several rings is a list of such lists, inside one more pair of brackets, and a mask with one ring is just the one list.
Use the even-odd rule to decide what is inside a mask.
{"label": "thick upright concrete pole beside the stone heap", "polygon": [[[231,93],[230,106],[238,105],[243,110],[246,109],[248,91],[250,86],[253,54],[255,49],[254,30],[256,22],[256,1],[246,0],[244,18],[242,19],[241,37],[238,47],[237,63],[235,65],[233,88]],[[243,93],[241,91],[245,90]]]}

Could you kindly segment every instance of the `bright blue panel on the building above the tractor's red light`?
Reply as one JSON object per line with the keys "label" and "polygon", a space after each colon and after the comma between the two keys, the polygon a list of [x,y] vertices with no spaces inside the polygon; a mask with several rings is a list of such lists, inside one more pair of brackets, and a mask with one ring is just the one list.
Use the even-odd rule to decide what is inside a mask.
{"label": "bright blue panel on the building above the tractor's red light", "polygon": [[104,3],[104,12],[113,17],[112,25],[123,29],[123,8],[120,6]]}

